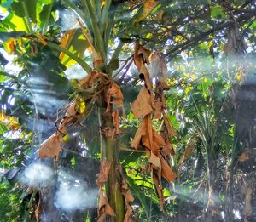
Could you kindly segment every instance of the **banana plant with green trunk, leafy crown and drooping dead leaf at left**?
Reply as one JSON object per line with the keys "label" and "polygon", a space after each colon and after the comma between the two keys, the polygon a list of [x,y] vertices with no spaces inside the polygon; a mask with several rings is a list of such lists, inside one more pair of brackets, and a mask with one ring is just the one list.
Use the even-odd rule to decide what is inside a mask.
{"label": "banana plant with green trunk, leafy crown and drooping dead leaf at left", "polygon": [[[39,157],[55,157],[57,160],[61,151],[59,143],[64,139],[63,134],[67,134],[70,124],[83,119],[89,110],[96,109],[101,140],[101,170],[97,179],[100,186],[99,221],[107,216],[111,216],[111,221],[128,221],[131,218],[133,197],[122,172],[117,143],[123,94],[114,77],[126,65],[125,62],[123,67],[119,67],[119,54],[137,38],[140,22],[158,4],[158,1],[148,0],[136,6],[137,12],[129,12],[129,9],[120,8],[118,3],[111,0],[82,0],[77,4],[69,0],[38,0],[32,3],[15,0],[1,3],[1,9],[7,16],[1,24],[0,39],[5,50],[17,55],[21,64],[27,65],[27,60],[37,57],[40,50],[50,48],[66,68],[79,64],[87,73],[77,83],[73,101],[56,133],[42,143]],[[64,33],[61,33],[60,26],[55,26],[61,9],[73,12],[75,20],[73,27]],[[119,17],[123,13],[129,19],[125,27],[119,26]],[[113,50],[111,38],[117,32],[122,34]],[[125,35],[125,32],[129,34]],[[131,58],[129,56],[128,59],[131,61]],[[61,71],[65,67],[62,66]],[[49,148],[52,148],[51,152]]]}

